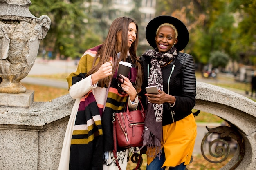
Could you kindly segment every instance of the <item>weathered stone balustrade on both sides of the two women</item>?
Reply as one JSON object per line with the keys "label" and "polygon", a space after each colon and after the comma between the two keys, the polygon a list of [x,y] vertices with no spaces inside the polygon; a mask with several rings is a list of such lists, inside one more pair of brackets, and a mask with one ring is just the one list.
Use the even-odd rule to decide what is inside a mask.
{"label": "weathered stone balustrade on both sides of the two women", "polygon": [[[231,136],[241,148],[221,169],[255,170],[256,103],[202,82],[197,82],[196,99],[195,109],[217,115],[236,127],[231,134],[239,139]],[[50,102],[34,102],[30,108],[0,107],[1,169],[57,170],[73,104],[74,99],[65,95]]]}

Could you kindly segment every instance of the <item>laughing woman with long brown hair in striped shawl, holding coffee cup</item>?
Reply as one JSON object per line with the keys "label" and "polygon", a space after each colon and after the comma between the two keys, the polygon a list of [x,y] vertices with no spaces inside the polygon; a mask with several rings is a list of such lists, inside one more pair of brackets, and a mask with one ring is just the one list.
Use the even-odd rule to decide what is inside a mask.
{"label": "laughing woman with long brown hair in striped shawl, holding coffee cup", "polygon": [[[132,18],[115,19],[103,44],[85,51],[67,77],[76,99],[67,125],[59,170],[114,170],[112,115],[138,106],[142,67],[136,56],[138,26]],[[117,75],[118,63],[132,65],[127,77]],[[118,78],[117,78],[118,77]],[[126,169],[130,150],[119,148]],[[118,169],[118,168],[117,168]]]}

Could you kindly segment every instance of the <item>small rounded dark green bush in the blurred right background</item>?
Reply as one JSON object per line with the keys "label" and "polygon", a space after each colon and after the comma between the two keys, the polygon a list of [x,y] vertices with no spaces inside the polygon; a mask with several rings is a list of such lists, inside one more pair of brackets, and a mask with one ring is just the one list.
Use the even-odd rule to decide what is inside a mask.
{"label": "small rounded dark green bush in the blurred right background", "polygon": [[229,62],[229,56],[221,51],[213,51],[210,53],[209,63],[213,68],[224,68]]}

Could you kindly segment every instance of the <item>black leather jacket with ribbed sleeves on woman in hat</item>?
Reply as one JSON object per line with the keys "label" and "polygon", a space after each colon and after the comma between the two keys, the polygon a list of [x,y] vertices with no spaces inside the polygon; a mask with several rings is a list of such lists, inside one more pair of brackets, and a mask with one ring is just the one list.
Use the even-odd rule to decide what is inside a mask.
{"label": "black leather jacket with ribbed sleeves on woman in hat", "polygon": [[[144,82],[139,95],[146,108],[145,87],[148,84],[148,71],[151,68],[150,57],[141,56],[144,69]],[[163,75],[164,92],[176,97],[173,107],[169,103],[163,104],[163,126],[181,120],[191,114],[195,106],[196,79],[195,64],[192,55],[177,53],[175,59],[161,68]],[[168,88],[169,87],[169,88]]]}

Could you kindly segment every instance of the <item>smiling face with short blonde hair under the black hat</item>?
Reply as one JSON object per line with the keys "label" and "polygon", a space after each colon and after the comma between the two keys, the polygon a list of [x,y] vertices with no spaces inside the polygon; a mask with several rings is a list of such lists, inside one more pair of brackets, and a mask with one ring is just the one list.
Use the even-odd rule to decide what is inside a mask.
{"label": "smiling face with short blonde hair under the black hat", "polygon": [[174,29],[170,26],[160,27],[155,37],[158,51],[165,53],[171,49],[173,44],[178,42],[178,39],[175,38],[175,35],[176,34]]}

